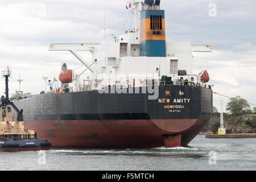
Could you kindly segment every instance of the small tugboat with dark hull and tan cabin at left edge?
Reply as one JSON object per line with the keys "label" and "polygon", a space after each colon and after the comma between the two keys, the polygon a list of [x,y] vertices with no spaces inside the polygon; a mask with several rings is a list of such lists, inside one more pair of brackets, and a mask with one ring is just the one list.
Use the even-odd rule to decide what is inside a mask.
{"label": "small tugboat with dark hull and tan cabin at left edge", "polygon": [[[49,150],[51,143],[48,140],[39,140],[34,130],[24,129],[23,109],[19,110],[9,100],[8,79],[11,75],[9,67],[7,71],[2,71],[2,74],[5,77],[6,97],[1,97],[0,105],[0,151]],[[12,109],[18,113],[16,118],[13,117]]]}

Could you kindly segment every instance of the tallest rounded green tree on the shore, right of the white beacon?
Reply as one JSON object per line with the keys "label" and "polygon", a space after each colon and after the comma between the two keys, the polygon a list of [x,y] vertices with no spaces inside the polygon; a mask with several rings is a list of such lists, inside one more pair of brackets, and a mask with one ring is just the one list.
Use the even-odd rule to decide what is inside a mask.
{"label": "tallest rounded green tree on the shore, right of the white beacon", "polygon": [[242,115],[247,109],[250,109],[248,102],[240,96],[230,98],[226,106],[226,110],[230,111],[234,116]]}

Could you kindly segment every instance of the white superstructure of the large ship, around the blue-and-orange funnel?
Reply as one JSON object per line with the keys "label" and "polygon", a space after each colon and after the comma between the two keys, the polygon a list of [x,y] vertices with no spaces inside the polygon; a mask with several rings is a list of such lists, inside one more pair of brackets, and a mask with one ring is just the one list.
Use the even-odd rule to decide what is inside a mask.
{"label": "white superstructure of the large ship, around the blue-and-orange funnel", "polygon": [[[141,38],[138,22],[140,1],[131,2],[134,28],[124,34],[113,35],[113,42],[49,44],[49,51],[70,51],[85,65],[86,61],[79,51],[90,51],[92,59],[97,60],[88,70],[92,73],[88,82],[90,89],[101,89],[108,85],[142,86],[145,80],[159,79],[164,75],[172,77],[175,83],[185,79],[189,83],[201,83],[199,74],[193,73],[193,52],[212,52],[212,45],[193,45],[191,42],[166,41],[166,57],[149,57],[141,51]],[[151,7],[142,5],[142,9]],[[159,9],[159,7],[152,9]],[[157,11],[157,10],[152,10]],[[179,72],[180,71],[180,72]],[[81,78],[76,78],[76,81]],[[76,86],[82,82],[76,82]],[[76,89],[79,90],[79,89]],[[80,87],[81,90],[81,87]]]}

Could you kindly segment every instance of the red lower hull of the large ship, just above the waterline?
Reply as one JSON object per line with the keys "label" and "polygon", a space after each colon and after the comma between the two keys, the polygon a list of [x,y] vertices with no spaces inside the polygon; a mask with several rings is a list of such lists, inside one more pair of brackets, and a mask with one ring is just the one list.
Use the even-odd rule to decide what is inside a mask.
{"label": "red lower hull of the large ship, just above the waterline", "polygon": [[208,119],[26,121],[55,148],[187,146]]}

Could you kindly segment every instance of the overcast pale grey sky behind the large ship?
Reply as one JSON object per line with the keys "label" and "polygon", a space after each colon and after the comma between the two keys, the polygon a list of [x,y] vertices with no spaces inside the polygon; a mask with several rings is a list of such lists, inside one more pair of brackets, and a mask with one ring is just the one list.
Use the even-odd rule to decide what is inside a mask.
{"label": "overcast pale grey sky behind the large ship", "polygon": [[[115,26],[119,32],[130,28],[126,2],[106,1],[106,36]],[[216,16],[209,16],[210,3],[217,7]],[[256,104],[256,1],[162,0],[161,7],[166,10],[167,40],[214,45],[212,53],[193,54],[194,73],[207,69],[214,92]],[[103,0],[0,1],[0,68],[9,65],[13,71],[10,94],[19,88],[19,74],[22,90],[35,94],[44,90],[43,76],[58,77],[62,62],[80,67],[71,53],[49,52],[48,44],[102,42],[103,27]],[[4,84],[2,79],[1,94]],[[213,98],[218,110],[221,100],[228,102]]]}

